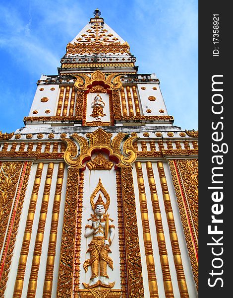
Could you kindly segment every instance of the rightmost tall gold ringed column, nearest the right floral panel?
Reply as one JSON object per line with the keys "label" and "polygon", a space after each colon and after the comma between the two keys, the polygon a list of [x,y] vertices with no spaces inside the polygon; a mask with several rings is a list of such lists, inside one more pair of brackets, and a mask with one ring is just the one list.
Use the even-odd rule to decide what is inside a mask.
{"label": "rightmost tall gold ringed column, nearest the right floral panel", "polygon": [[185,275],[184,275],[184,271],[183,271],[183,264],[182,264],[182,259],[181,259],[181,255],[180,255],[179,242],[178,242],[178,237],[177,237],[176,228],[175,228],[173,209],[172,209],[172,205],[171,205],[171,199],[170,199],[170,195],[169,195],[169,191],[168,191],[168,184],[167,184],[167,180],[166,180],[166,176],[165,176],[165,172],[164,172],[163,163],[161,161],[158,161],[157,167],[158,167],[158,171],[159,171],[160,184],[161,184],[162,192],[163,192],[165,212],[167,215],[167,221],[168,221],[168,226],[169,226],[169,234],[170,234],[170,239],[171,239],[171,244],[172,244],[179,293],[180,293],[181,298],[188,298],[189,297],[188,289],[187,289]]}

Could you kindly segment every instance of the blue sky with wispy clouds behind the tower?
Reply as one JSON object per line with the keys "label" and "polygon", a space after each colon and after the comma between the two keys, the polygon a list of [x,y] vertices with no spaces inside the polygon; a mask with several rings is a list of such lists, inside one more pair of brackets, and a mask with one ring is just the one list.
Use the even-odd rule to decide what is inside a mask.
{"label": "blue sky with wispy clouds behind the tower", "polygon": [[96,8],[130,45],[139,74],[155,73],[174,125],[198,129],[197,0],[0,0],[0,131],[24,126],[41,74]]}

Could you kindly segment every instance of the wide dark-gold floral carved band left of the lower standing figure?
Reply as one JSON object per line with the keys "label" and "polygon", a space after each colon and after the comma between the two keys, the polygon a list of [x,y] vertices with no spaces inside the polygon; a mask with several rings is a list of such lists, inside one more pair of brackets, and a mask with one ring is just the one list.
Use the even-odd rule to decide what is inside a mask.
{"label": "wide dark-gold floral carved band left of the lower standing figure", "polygon": [[[64,219],[61,238],[60,265],[58,273],[57,297],[71,298],[73,287],[73,259],[75,247],[75,230],[77,219],[77,198],[79,184],[78,168],[68,168]],[[70,262],[71,261],[71,262]]]}

